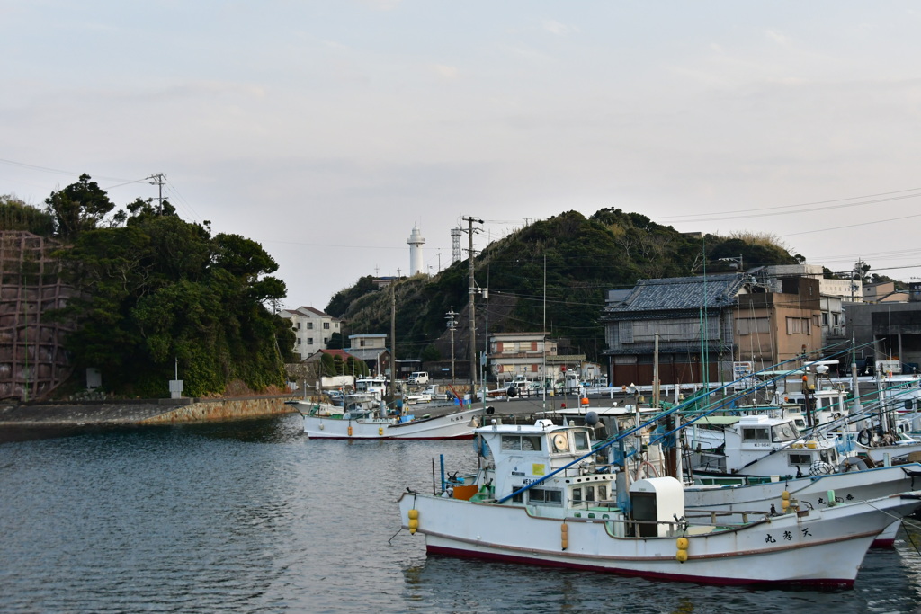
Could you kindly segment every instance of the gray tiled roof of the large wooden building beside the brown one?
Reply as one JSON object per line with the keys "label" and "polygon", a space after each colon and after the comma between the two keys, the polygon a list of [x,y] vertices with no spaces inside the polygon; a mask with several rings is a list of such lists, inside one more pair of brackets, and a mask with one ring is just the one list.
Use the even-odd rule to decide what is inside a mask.
{"label": "gray tiled roof of the large wooden building beside the brown one", "polygon": [[744,283],[738,273],[707,275],[706,278],[641,279],[623,303],[608,307],[605,312],[722,307],[735,302]]}

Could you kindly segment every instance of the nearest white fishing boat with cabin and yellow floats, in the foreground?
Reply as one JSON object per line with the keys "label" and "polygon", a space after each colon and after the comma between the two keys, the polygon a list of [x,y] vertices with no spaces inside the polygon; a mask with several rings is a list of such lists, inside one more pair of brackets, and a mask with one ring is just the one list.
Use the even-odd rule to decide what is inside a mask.
{"label": "nearest white fishing boat with cabin and yellow floats, in the foreground", "polygon": [[627,491],[623,472],[596,465],[589,426],[494,422],[476,434],[476,476],[400,498],[402,526],[430,553],[707,584],[853,585],[872,540],[921,504],[911,492],[775,516],[705,513],[685,508],[674,478]]}

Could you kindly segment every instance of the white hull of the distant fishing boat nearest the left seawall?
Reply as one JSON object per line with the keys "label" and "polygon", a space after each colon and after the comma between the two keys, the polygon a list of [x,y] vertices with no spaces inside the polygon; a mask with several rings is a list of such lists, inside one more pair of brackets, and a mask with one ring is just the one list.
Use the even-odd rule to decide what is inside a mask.
{"label": "white hull of the distant fishing boat nearest the left seawall", "polygon": [[394,418],[348,419],[341,416],[304,416],[304,432],[311,439],[470,439],[482,409],[458,411],[435,418],[398,423]]}

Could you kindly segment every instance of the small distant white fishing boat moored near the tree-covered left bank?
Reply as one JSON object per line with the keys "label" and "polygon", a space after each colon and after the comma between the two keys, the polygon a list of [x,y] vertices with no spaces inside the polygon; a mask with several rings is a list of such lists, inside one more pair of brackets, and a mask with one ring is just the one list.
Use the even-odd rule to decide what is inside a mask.
{"label": "small distant white fishing boat moored near the tree-covered left bank", "polygon": [[445,415],[395,415],[386,406],[354,405],[346,408],[328,403],[287,401],[304,418],[304,432],[311,439],[470,439],[479,425],[482,408]]}

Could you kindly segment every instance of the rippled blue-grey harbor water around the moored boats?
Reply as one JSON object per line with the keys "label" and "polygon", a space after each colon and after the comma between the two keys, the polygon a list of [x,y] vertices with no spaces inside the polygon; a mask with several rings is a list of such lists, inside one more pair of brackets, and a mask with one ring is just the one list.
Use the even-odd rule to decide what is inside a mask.
{"label": "rippled blue-grey harbor water around the moored boats", "polygon": [[[0,434],[3,612],[913,612],[921,533],[853,589],[781,590],[426,557],[396,499],[470,441],[317,441],[297,415]],[[821,561],[816,561],[821,565]]]}

